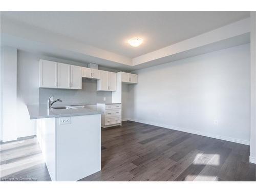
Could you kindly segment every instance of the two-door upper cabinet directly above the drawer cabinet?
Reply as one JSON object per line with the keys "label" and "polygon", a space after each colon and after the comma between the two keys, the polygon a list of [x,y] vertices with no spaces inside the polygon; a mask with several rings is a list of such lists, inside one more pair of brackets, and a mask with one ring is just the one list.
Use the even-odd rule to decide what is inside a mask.
{"label": "two-door upper cabinet directly above the drawer cabinet", "polygon": [[100,79],[97,80],[97,91],[116,91],[116,73],[100,71]]}

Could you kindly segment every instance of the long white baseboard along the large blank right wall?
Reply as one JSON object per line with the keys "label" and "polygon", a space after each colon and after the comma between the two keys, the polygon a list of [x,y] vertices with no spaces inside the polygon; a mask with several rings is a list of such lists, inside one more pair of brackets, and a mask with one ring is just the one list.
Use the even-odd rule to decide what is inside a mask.
{"label": "long white baseboard along the large blank right wall", "polygon": [[139,122],[139,123],[150,124],[150,125],[155,125],[155,126],[160,126],[160,127],[166,128],[166,129],[172,129],[172,130],[182,131],[182,132],[186,132],[186,133],[202,135],[202,136],[211,137],[211,138],[215,138],[215,139],[221,139],[221,140],[225,140],[225,141],[231,141],[231,142],[235,142],[235,143],[250,145],[249,140],[247,141],[247,140],[242,140],[242,139],[237,139],[237,138],[232,138],[232,137],[227,137],[227,136],[222,136],[222,135],[215,135],[215,134],[211,134],[211,133],[205,133],[205,132],[195,131],[195,130],[191,130],[191,129],[186,129],[183,127],[159,124],[159,123],[146,121],[146,120],[131,119],[131,118],[127,119],[127,120],[135,121],[135,122]]}

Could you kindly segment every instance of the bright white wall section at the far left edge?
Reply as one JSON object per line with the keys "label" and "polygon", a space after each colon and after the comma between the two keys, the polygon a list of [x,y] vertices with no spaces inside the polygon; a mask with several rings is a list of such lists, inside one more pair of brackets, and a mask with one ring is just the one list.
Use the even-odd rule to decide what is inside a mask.
{"label": "bright white wall section at the far left edge", "polygon": [[1,48],[1,140],[17,139],[17,49]]}

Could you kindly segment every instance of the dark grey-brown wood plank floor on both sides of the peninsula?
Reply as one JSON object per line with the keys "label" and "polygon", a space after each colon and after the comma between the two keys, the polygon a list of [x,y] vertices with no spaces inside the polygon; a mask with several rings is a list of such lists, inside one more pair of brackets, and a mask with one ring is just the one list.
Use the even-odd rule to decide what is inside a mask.
{"label": "dark grey-brown wood plank floor on both sides of the peninsula", "polygon": [[[101,136],[102,170],[80,181],[256,180],[247,145],[132,121],[102,129]],[[7,144],[2,178],[50,180],[35,138]]]}

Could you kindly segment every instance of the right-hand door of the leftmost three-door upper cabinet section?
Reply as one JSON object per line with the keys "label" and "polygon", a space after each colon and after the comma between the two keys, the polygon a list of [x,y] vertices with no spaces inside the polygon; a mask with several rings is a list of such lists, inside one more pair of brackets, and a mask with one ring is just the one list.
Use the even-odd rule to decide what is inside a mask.
{"label": "right-hand door of the leftmost three-door upper cabinet section", "polygon": [[82,69],[70,66],[70,89],[82,89]]}

